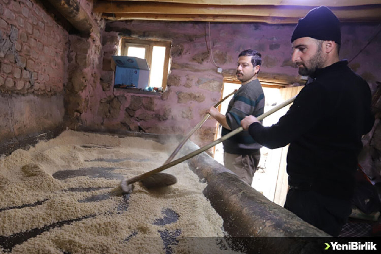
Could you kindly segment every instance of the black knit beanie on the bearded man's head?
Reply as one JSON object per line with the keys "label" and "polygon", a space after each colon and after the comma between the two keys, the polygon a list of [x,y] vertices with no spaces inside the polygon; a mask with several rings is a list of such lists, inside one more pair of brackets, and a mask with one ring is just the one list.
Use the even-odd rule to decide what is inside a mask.
{"label": "black knit beanie on the bearded man's head", "polygon": [[341,44],[340,21],[326,6],[319,6],[299,19],[291,43],[301,37],[311,37],[317,40],[333,40]]}

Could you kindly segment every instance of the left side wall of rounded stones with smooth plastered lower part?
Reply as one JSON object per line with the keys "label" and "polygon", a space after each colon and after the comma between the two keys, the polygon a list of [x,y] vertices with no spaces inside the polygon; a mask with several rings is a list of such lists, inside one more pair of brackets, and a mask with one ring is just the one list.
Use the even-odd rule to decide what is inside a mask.
{"label": "left side wall of rounded stones with smooth plastered lower part", "polygon": [[0,0],[0,141],[63,125],[68,34],[40,2]]}

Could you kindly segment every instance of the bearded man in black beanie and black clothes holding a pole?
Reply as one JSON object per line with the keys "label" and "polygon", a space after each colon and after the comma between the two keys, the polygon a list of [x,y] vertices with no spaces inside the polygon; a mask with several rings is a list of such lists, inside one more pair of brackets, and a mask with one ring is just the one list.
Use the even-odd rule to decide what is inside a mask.
{"label": "bearded man in black beanie and black clothes holding a pole", "polygon": [[241,121],[263,146],[290,144],[285,208],[332,236],[351,214],[361,137],[374,124],[369,85],[339,60],[339,25],[325,6],[299,19],[291,36],[292,61],[312,82],[277,124],[264,127],[253,116]]}

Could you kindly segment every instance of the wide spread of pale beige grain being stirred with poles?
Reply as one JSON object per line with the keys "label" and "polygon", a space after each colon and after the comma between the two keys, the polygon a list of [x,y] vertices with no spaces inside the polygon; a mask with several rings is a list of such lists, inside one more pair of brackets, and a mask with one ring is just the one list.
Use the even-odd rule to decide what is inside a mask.
{"label": "wide spread of pale beige grain being stirred with poles", "polygon": [[[224,253],[216,238],[207,238],[224,236],[223,220],[202,195],[205,183],[186,163],[165,170],[178,183],[164,190],[135,184],[129,197],[110,194],[121,177],[161,166],[171,149],[173,144],[139,137],[69,130],[14,151],[0,160],[0,235],[45,228],[12,246],[12,253]],[[75,175],[97,168],[108,168],[112,177]],[[61,170],[74,174],[54,178]],[[165,222],[168,211],[174,221]]]}

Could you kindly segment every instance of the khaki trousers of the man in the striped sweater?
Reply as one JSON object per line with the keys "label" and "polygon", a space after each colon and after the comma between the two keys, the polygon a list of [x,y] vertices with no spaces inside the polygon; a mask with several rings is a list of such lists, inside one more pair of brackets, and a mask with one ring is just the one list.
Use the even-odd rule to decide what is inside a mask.
{"label": "khaki trousers of the man in the striped sweater", "polygon": [[243,182],[250,186],[260,158],[261,153],[259,149],[248,155],[224,152],[225,167],[233,171]]}

